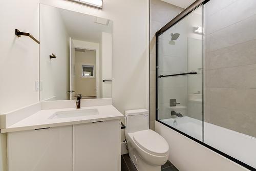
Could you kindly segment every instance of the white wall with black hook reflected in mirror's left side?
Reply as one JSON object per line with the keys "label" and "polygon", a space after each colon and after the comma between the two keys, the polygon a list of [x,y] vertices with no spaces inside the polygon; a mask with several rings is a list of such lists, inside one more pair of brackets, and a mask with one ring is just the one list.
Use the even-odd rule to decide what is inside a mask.
{"label": "white wall with black hook reflected in mirror's left side", "polygon": [[[52,53],[57,58],[49,58]],[[69,99],[69,35],[58,8],[40,5],[40,99]]]}

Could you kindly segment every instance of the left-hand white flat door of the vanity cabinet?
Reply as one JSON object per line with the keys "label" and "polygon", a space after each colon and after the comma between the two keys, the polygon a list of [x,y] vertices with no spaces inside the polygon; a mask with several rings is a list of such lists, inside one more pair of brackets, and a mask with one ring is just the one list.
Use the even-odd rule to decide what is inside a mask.
{"label": "left-hand white flat door of the vanity cabinet", "polygon": [[72,125],[8,133],[8,171],[29,170],[72,170]]}

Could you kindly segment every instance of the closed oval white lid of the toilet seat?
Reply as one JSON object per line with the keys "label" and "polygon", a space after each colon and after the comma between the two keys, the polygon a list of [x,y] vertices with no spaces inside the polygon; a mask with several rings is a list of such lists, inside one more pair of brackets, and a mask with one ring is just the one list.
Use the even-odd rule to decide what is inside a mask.
{"label": "closed oval white lid of the toilet seat", "polygon": [[159,156],[168,154],[168,143],[161,135],[157,134],[155,131],[143,130],[135,132],[133,134],[133,139],[139,147],[148,153]]}

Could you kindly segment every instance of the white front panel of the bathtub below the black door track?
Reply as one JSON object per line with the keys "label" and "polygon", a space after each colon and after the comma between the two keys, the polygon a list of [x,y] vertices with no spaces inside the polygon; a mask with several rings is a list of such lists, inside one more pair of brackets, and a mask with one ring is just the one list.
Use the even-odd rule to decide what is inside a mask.
{"label": "white front panel of the bathtub below the black door track", "polygon": [[169,144],[168,160],[180,171],[248,170],[157,121],[155,125]]}

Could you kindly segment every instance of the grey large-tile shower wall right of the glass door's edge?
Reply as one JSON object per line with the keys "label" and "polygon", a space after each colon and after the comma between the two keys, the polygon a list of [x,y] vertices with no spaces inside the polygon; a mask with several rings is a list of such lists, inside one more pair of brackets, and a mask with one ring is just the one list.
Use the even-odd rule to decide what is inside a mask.
{"label": "grey large-tile shower wall right of the glass door's edge", "polygon": [[205,121],[256,137],[256,1],[205,4]]}

